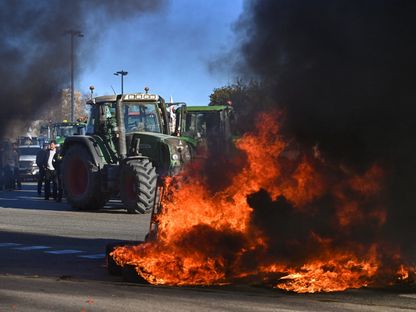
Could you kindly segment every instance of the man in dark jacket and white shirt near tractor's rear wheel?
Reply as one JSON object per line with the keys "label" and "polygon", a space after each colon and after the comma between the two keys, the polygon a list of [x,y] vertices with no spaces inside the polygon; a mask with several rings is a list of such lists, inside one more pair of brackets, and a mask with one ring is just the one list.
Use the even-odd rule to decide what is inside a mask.
{"label": "man in dark jacket and white shirt near tractor's rear wheel", "polygon": [[[62,201],[61,155],[57,151],[56,141],[45,144],[36,155],[36,165],[39,167],[38,195],[42,195],[42,184],[45,185],[45,200],[50,197],[57,202]],[[52,184],[52,192],[51,192]]]}

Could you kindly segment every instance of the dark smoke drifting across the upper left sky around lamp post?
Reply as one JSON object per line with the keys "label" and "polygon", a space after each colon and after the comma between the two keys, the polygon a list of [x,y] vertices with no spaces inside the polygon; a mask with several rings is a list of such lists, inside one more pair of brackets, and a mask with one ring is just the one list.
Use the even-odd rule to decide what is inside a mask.
{"label": "dark smoke drifting across the upper left sky around lamp post", "polygon": [[99,54],[100,34],[121,20],[159,9],[163,0],[3,0],[0,2],[0,137],[15,120],[31,121],[70,84],[70,39],[77,69]]}

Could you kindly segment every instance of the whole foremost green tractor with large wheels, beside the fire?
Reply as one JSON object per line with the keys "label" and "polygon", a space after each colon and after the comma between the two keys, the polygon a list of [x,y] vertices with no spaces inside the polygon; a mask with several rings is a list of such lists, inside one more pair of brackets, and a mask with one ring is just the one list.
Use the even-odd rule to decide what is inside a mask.
{"label": "whole foremost green tractor with large wheels, beside the fire", "polygon": [[62,179],[72,207],[99,209],[119,194],[129,213],[148,213],[158,198],[158,181],[190,161],[188,143],[172,136],[165,101],[156,94],[96,97],[86,135],[62,147]]}

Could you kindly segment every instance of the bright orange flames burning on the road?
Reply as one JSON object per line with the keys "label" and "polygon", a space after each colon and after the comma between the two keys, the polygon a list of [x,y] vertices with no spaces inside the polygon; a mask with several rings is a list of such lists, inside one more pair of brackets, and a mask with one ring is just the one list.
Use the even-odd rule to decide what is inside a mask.
{"label": "bright orange flames burning on the road", "polygon": [[[332,234],[349,238],[357,225],[379,229],[385,223],[380,196],[383,170],[374,164],[356,174],[326,163],[316,147],[310,153],[291,150],[280,133],[277,115],[262,114],[257,131],[238,140],[236,146],[245,153],[246,163],[222,191],[209,191],[195,164],[194,171],[167,180],[163,209],[156,217],[157,240],[119,247],[112,253],[115,261],[135,266],[152,284],[223,285],[250,280],[295,292],[371,285],[382,267],[377,244],[345,243],[338,233]],[[270,235],[255,221],[256,211],[248,199],[259,190],[266,191],[271,203],[285,199],[292,210],[288,213],[295,216],[291,231],[301,226],[296,224],[297,216],[315,220],[323,206],[331,207],[332,232],[318,234],[311,228],[307,237],[281,242],[281,237]],[[274,245],[290,256],[273,252]],[[309,246],[316,248],[305,257]],[[402,267],[396,275],[404,279],[405,272]]]}

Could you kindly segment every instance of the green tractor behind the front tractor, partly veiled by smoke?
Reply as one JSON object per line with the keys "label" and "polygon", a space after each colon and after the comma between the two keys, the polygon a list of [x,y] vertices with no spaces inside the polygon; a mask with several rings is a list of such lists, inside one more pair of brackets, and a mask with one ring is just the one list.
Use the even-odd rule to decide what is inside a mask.
{"label": "green tractor behind the front tractor, partly veiled by smoke", "polygon": [[234,112],[230,105],[187,106],[176,109],[176,135],[197,155],[206,151],[228,152],[232,146]]}

